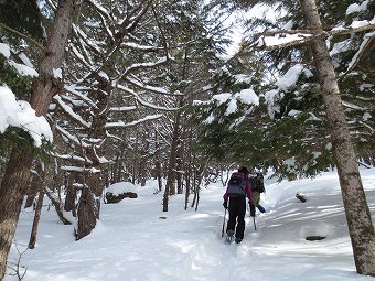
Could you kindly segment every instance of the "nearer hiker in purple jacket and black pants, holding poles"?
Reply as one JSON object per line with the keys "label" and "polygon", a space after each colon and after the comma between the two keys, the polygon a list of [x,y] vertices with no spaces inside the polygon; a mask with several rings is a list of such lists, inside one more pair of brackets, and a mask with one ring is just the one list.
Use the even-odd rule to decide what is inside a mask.
{"label": "nearer hiker in purple jacket and black pants, holding poles", "polygon": [[239,244],[244,239],[246,197],[250,206],[250,216],[254,217],[255,206],[253,204],[248,170],[246,166],[242,166],[238,169],[238,172],[234,172],[231,175],[226,192],[223,195],[223,206],[229,210],[229,220],[226,226],[227,242],[232,242],[234,236],[236,244]]}

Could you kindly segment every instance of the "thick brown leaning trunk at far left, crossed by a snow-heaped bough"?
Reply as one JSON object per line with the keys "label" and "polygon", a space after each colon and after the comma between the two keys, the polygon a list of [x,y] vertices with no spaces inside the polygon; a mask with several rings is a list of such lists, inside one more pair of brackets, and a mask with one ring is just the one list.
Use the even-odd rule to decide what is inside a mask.
{"label": "thick brown leaning trunk at far left, crossed by a snow-heaped bough", "polygon": [[[60,85],[56,84],[53,71],[62,65],[76,1],[58,1],[44,56],[38,66],[39,78],[30,100],[36,116],[47,112],[52,97],[58,91]],[[6,274],[8,253],[25,194],[32,158],[30,150],[14,148],[0,186],[0,280]]]}

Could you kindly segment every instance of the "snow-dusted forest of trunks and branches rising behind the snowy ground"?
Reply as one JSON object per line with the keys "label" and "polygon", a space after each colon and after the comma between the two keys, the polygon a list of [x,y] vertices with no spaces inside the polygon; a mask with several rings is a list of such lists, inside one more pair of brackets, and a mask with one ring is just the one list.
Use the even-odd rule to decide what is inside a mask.
{"label": "snow-dusted forest of trunks and branches rising behind the snowy ground", "polygon": [[[228,18],[254,6],[277,17],[233,22],[244,37],[228,56]],[[35,208],[30,248],[45,196],[82,239],[113,183],[157,179],[164,212],[182,193],[196,208],[200,186],[239,164],[280,180],[336,166],[357,272],[375,275],[358,173],[375,165],[374,11],[374,0],[0,1],[0,84],[53,132],[41,147],[22,128],[0,134],[0,279],[22,207]]]}

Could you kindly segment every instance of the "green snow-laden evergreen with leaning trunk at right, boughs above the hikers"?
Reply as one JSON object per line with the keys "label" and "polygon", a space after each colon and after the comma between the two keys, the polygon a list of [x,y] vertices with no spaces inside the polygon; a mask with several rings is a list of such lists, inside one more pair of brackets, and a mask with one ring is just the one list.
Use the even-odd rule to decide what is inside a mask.
{"label": "green snow-laden evergreen with leaning trunk at right, boughs above the hikers", "polygon": [[[260,1],[237,2],[255,4]],[[374,148],[373,140],[367,138],[369,137],[367,133],[373,128],[374,120],[371,118],[373,109],[372,106],[364,106],[362,101],[366,99],[371,101],[369,105],[373,104],[372,98],[365,98],[374,90],[374,85],[366,80],[373,75],[368,68],[367,57],[373,52],[368,47],[374,30],[374,24],[371,22],[374,15],[368,8],[373,2],[365,1],[362,8],[352,1],[340,3],[318,1],[318,6],[313,0],[301,0],[301,6],[294,1],[267,2],[277,3],[288,11],[286,17],[280,18],[288,21],[282,24],[274,23],[271,32],[267,32],[266,28],[256,44],[268,50],[264,53],[266,57],[271,60],[278,57],[275,62],[279,69],[279,77],[275,78],[274,83],[265,83],[257,93],[260,100],[264,100],[259,109],[266,106],[270,118],[261,114],[246,116],[237,126],[234,120],[237,120],[242,114],[231,108],[233,105],[238,106],[238,102],[235,102],[240,97],[242,91],[239,91],[225,99],[217,95],[208,106],[203,104],[205,111],[201,120],[208,122],[211,125],[207,126],[208,130],[215,132],[217,129],[212,126],[213,123],[225,126],[224,129],[219,128],[226,133],[222,134],[224,138],[219,141],[227,145],[229,150],[226,152],[232,153],[229,154],[232,159],[239,155],[236,154],[237,151],[244,151],[244,145],[249,149],[258,148],[253,139],[264,136],[262,144],[267,145],[266,150],[270,150],[272,155],[265,153],[262,156],[268,161],[275,156],[272,165],[283,167],[282,174],[303,176],[310,174],[309,170],[313,167],[311,171],[313,175],[319,173],[324,164],[328,166],[334,161],[338,166],[357,272],[374,275],[374,227],[356,164],[362,149],[366,148],[371,151]],[[322,17],[318,8],[324,11]],[[364,24],[356,26],[360,19],[365,20],[362,22]],[[270,26],[267,21],[261,23]],[[279,30],[275,31],[275,28]],[[288,41],[288,36],[294,37]],[[272,44],[276,39],[283,41]],[[364,89],[363,85],[368,87]],[[250,86],[254,87],[254,85],[248,87]],[[361,94],[355,95],[358,90]],[[246,106],[242,112],[256,112],[253,106],[254,102]],[[248,127],[246,122],[253,126]],[[235,137],[233,140],[229,132],[238,133],[238,138]],[[353,143],[356,144],[356,151]],[[236,149],[231,150],[233,147]],[[308,153],[303,153],[303,150]],[[239,161],[256,160],[251,154],[247,152]],[[322,162],[324,159],[329,161]]]}

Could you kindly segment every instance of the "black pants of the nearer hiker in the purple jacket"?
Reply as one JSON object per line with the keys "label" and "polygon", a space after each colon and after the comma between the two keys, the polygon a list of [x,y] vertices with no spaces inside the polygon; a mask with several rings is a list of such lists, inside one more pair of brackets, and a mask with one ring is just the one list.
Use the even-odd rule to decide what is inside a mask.
{"label": "black pants of the nearer hiker in the purple jacket", "polygon": [[[236,238],[244,238],[245,231],[246,197],[229,198],[229,220],[226,231],[235,231]],[[237,224],[237,227],[236,227]]]}

